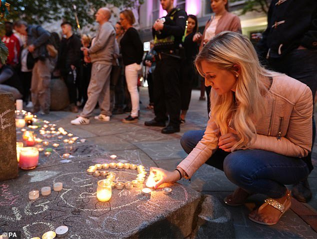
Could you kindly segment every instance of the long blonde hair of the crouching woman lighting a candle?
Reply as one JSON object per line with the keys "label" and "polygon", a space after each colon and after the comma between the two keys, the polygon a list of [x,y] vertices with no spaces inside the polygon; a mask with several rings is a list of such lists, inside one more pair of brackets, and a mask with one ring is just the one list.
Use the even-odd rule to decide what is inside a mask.
{"label": "long blonde hair of the crouching woman lighting a candle", "polygon": [[223,31],[210,39],[196,56],[197,70],[204,77],[201,61],[234,75],[238,73],[236,65],[239,66],[235,92],[218,95],[211,89],[211,116],[222,135],[230,131],[231,125],[237,132],[240,140],[231,151],[248,148],[256,138],[255,123],[264,113],[265,95],[270,85],[267,76],[274,73],[260,65],[249,39],[232,31]]}

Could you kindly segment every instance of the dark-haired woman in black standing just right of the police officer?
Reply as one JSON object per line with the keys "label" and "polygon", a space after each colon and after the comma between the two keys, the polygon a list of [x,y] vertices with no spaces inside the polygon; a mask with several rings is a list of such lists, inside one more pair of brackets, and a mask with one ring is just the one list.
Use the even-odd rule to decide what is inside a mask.
{"label": "dark-haired woman in black standing just right of the police officer", "polygon": [[181,77],[180,77],[180,99],[181,99],[181,112],[180,123],[185,122],[185,116],[188,110],[191,86],[195,76],[195,69],[193,60],[198,53],[198,46],[196,42],[192,41],[193,35],[198,30],[197,17],[189,14],[187,17],[187,32],[184,40],[185,59],[181,64]]}

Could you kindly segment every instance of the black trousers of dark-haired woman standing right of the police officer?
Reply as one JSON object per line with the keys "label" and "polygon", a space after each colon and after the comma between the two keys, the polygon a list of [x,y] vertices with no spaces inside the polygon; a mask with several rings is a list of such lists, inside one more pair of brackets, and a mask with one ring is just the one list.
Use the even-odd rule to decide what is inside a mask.
{"label": "black trousers of dark-haired woman standing right of the police officer", "polygon": [[194,76],[193,62],[183,60],[180,72],[180,109],[187,110],[191,98],[191,89]]}

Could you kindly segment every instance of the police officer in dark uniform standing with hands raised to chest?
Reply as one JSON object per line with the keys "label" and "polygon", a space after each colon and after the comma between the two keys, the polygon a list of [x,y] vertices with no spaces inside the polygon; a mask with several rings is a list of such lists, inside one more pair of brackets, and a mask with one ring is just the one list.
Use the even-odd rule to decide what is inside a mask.
{"label": "police officer in dark uniform standing with hands raised to chest", "polygon": [[160,0],[167,15],[153,24],[154,49],[157,52],[154,70],[154,113],[146,126],[165,126],[162,133],[179,132],[180,113],[180,60],[184,56],[182,42],[185,34],[187,14],[173,7],[174,0]]}

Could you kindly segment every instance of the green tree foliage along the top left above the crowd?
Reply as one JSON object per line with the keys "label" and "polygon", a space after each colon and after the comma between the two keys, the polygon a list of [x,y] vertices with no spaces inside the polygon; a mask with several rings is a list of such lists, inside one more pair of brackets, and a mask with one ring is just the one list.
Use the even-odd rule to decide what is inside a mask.
{"label": "green tree foliage along the top left above the crowd", "polygon": [[63,18],[75,25],[73,5],[76,5],[79,23],[84,25],[94,21],[94,13],[100,7],[137,7],[142,3],[143,0],[12,0],[7,19],[41,24]]}

